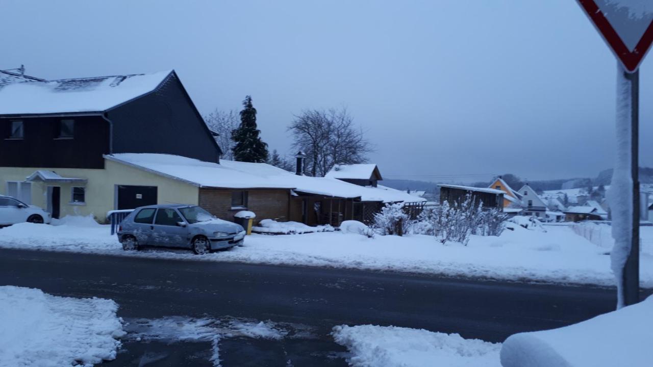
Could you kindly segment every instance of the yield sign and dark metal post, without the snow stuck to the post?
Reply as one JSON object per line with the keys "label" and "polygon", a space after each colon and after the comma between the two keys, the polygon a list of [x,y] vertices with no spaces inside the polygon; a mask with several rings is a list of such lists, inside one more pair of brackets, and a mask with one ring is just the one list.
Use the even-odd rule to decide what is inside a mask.
{"label": "yield sign and dark metal post, without the snow stuck to the post", "polygon": [[[632,225],[630,251],[622,268],[618,307],[639,302],[639,64],[653,43],[653,12],[641,3],[614,0],[577,0],[596,30],[618,59],[617,99],[629,96],[630,174],[632,180]],[[624,83],[629,91],[624,91]],[[620,126],[617,127],[618,129]],[[621,144],[621,143],[619,143]],[[623,147],[623,146],[622,146]],[[615,173],[616,175],[616,170]],[[613,217],[614,219],[614,217]],[[614,261],[614,259],[613,259]]]}

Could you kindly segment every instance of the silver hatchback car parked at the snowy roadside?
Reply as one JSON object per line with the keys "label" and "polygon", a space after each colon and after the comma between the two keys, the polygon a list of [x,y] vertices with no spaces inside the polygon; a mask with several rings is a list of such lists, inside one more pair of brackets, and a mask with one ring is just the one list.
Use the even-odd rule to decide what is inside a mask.
{"label": "silver hatchback car parked at the snowy roadside", "polygon": [[142,246],[182,247],[204,254],[244,242],[241,225],[217,219],[197,205],[141,206],[118,227],[118,240],[125,250]]}

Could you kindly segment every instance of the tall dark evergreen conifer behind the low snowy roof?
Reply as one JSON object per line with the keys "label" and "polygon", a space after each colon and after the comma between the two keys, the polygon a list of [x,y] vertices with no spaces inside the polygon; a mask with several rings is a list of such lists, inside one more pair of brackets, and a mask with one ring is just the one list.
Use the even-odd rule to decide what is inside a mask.
{"label": "tall dark evergreen conifer behind the low snowy roof", "polygon": [[240,162],[265,163],[268,161],[268,144],[259,136],[261,130],[256,126],[256,108],[251,103],[251,96],[243,101],[240,111],[240,126],[231,132],[234,145],[234,160]]}

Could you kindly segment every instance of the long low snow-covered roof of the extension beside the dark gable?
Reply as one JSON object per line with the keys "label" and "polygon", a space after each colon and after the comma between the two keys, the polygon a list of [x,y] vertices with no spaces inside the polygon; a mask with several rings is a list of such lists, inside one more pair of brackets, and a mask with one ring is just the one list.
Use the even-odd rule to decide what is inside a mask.
{"label": "long low snow-covered roof of the extension beside the dark gable", "polygon": [[335,178],[298,176],[266,163],[221,160],[218,164],[179,155],[154,153],[119,153],[104,155],[104,157],[198,187],[293,189],[300,193],[313,195],[360,197],[363,201],[425,201],[425,199],[413,197],[395,189],[364,187]]}

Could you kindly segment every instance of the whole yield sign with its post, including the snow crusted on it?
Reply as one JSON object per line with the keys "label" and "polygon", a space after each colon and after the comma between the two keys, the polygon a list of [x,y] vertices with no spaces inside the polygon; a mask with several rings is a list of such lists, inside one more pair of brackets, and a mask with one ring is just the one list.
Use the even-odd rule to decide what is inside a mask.
{"label": "whole yield sign with its post, including the snow crusted on it", "polygon": [[653,42],[653,1],[577,0],[617,61],[617,159],[609,193],[617,308],[639,302],[639,64]]}

